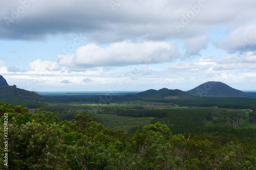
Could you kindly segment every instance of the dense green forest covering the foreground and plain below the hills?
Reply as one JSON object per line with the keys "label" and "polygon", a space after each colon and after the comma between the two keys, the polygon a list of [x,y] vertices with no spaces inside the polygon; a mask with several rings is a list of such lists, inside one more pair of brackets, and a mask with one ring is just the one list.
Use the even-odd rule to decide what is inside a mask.
{"label": "dense green forest covering the foreground and plain below the hills", "polygon": [[[43,108],[0,103],[1,157],[8,125],[9,169],[255,169],[255,129],[243,129],[247,112],[221,108],[117,110],[101,112],[154,116],[152,124],[114,131],[94,122],[90,107],[46,106],[72,119],[60,121]],[[126,107],[126,106],[125,106]],[[138,106],[134,106],[138,107]],[[109,109],[108,109],[109,108]],[[76,110],[76,111],[75,111]],[[159,116],[157,113],[159,112]],[[8,122],[4,113],[8,113]],[[91,114],[91,113],[90,113]],[[147,115],[150,114],[150,115]],[[61,114],[60,114],[61,115]],[[254,123],[255,112],[250,112]],[[70,118],[71,118],[70,117]],[[158,118],[157,118],[158,117]],[[211,122],[210,125],[207,123]],[[182,133],[180,133],[182,132]],[[1,161],[1,169],[6,169]]]}

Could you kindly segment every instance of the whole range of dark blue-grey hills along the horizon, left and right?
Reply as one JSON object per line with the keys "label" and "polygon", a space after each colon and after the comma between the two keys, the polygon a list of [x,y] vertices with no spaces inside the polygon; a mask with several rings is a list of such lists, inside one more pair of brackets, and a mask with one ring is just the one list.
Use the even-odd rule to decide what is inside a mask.
{"label": "whole range of dark blue-grey hills along the horizon, left and right", "polygon": [[[217,98],[240,98],[240,97],[251,97],[253,95],[247,94],[243,91],[234,89],[222,82],[206,82],[194,89],[188,91],[181,91],[178,89],[171,90],[162,88],[159,90],[149,89],[146,91],[139,92],[137,94],[126,94],[126,95],[113,95],[111,96],[112,101],[125,101],[125,100],[187,100],[187,99],[198,99],[199,96],[217,97]],[[87,97],[84,99],[76,99],[81,101],[95,101],[97,102],[100,96]],[[104,95],[101,95],[105,98]],[[4,102],[4,99],[15,98],[20,101],[34,101],[34,102],[50,102],[51,100],[33,91],[27,91],[19,89],[16,85],[9,86],[3,76],[0,76],[0,102]],[[73,97],[68,96],[70,100]],[[54,98],[52,98],[54,99]],[[55,98],[56,99],[56,98]],[[54,99],[54,100],[55,100]]]}

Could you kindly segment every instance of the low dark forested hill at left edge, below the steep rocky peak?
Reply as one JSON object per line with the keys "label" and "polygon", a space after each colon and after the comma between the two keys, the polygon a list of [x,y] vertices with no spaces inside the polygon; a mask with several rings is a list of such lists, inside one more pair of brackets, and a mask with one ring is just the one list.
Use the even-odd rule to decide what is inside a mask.
{"label": "low dark forested hill at left edge, below the steep rocky peak", "polygon": [[36,101],[36,102],[49,102],[50,100],[44,96],[41,96],[33,91],[27,91],[24,89],[16,88],[16,86],[2,86],[0,87],[0,98],[19,98],[22,100]]}

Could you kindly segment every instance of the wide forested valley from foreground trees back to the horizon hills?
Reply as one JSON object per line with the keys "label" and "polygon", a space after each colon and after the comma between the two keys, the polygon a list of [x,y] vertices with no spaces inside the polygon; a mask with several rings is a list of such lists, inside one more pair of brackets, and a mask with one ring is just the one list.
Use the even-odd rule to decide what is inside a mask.
{"label": "wide forested valley from foreground trees back to the horizon hills", "polygon": [[207,95],[167,88],[35,93],[4,85],[0,122],[3,132],[7,112],[11,168],[253,169],[256,97],[211,85],[195,88]]}

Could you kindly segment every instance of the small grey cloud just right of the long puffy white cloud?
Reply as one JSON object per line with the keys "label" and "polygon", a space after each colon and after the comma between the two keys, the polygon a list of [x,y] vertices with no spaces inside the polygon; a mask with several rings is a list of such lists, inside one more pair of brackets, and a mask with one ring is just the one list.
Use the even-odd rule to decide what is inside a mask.
{"label": "small grey cloud just right of the long puffy white cloud", "polygon": [[186,55],[200,55],[200,50],[206,49],[210,38],[208,36],[194,37],[184,40]]}

